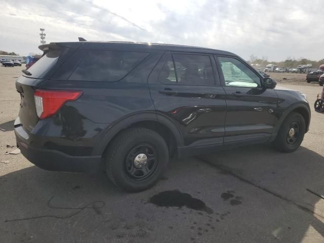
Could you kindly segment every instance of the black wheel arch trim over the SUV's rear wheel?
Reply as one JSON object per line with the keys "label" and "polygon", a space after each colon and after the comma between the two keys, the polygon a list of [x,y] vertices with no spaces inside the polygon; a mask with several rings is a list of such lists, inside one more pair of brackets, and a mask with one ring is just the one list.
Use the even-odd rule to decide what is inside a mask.
{"label": "black wheel arch trim over the SUV's rear wheel", "polygon": [[111,124],[99,138],[93,154],[103,155],[110,141],[130,127],[144,127],[157,132],[166,140],[168,146],[171,145],[169,151],[175,148],[175,151],[171,151],[174,154],[177,152],[177,147],[184,144],[179,127],[169,117],[155,112],[140,112],[127,115]]}

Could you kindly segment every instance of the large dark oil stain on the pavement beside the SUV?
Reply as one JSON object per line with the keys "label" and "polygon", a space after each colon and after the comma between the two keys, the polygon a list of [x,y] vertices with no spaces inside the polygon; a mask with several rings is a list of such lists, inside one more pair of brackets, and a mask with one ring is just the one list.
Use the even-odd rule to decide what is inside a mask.
{"label": "large dark oil stain on the pavement beside the SUV", "polygon": [[213,210],[206,206],[206,204],[197,198],[192,197],[188,193],[180,192],[179,190],[163,191],[149,199],[149,203],[158,207],[187,207],[189,209],[204,211],[212,214]]}

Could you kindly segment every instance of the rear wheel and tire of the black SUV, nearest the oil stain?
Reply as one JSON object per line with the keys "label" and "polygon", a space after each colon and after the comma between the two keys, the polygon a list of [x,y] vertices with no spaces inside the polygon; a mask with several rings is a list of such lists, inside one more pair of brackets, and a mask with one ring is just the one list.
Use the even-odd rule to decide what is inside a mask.
{"label": "rear wheel and tire of the black SUV, nearest the oil stain", "polygon": [[[140,159],[146,163],[137,160],[136,165],[139,156],[143,156]],[[152,187],[163,175],[168,166],[169,148],[158,133],[146,128],[130,128],[113,139],[105,160],[107,175],[116,186],[138,192]]]}

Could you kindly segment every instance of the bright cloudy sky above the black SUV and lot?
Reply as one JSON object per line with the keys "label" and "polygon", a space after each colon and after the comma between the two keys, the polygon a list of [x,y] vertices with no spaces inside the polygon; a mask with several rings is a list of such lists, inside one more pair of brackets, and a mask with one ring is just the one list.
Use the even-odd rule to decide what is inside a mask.
{"label": "bright cloudy sky above the black SUV and lot", "polygon": [[208,47],[282,61],[324,58],[323,0],[0,0],[0,50],[46,41],[134,41]]}

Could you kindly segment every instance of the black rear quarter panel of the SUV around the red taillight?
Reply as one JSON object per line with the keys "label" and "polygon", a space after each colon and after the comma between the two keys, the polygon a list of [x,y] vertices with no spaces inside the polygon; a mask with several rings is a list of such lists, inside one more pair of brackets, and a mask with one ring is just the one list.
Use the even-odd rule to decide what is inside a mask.
{"label": "black rear quarter panel of the SUV around the red taillight", "polygon": [[159,54],[148,56],[126,77],[113,83],[45,80],[38,89],[76,90],[83,94],[37,124],[34,132],[42,137],[37,147],[70,155],[98,155],[93,154],[94,148],[114,121],[143,110],[154,112],[147,77],[158,59]]}

